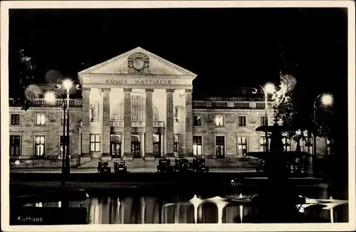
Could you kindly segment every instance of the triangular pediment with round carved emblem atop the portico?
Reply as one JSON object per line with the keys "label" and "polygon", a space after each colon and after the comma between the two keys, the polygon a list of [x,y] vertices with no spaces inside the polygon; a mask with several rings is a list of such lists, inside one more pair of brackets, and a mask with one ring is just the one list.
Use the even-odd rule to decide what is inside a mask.
{"label": "triangular pediment with round carved emblem atop the portico", "polygon": [[184,75],[192,78],[197,76],[189,70],[140,47],[80,71],[79,74]]}

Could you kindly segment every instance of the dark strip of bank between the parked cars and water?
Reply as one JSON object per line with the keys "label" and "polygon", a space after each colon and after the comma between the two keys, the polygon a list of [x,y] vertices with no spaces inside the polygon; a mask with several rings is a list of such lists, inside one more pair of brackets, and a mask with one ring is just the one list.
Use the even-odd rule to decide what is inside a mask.
{"label": "dark strip of bank between the parked cars and water", "polygon": [[[231,180],[241,178],[244,184],[258,184],[266,182],[266,177],[260,173],[126,173],[126,174],[92,174],[74,173],[66,176],[66,183],[77,184],[77,187],[97,188],[105,186],[147,186],[147,185],[220,185],[231,184]],[[12,183],[61,183],[63,175],[59,173],[11,173]],[[323,179],[290,178],[293,185],[323,184]],[[67,185],[68,185],[67,184]]]}

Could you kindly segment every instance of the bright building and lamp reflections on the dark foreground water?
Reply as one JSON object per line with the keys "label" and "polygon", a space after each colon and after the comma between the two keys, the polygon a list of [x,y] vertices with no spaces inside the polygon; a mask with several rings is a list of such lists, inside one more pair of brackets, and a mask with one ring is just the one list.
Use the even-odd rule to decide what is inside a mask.
{"label": "bright building and lamp reflections on the dark foreground water", "polygon": [[[144,195],[144,194],[141,194]],[[72,201],[70,207],[86,207],[88,223],[253,223],[261,211],[229,199],[248,199],[251,194],[225,194],[224,196],[98,196],[84,202]],[[31,204],[28,204],[31,205]],[[32,204],[38,207],[61,207],[61,202]],[[337,223],[347,218],[347,201],[335,200],[321,192],[295,208],[298,222]],[[268,212],[273,217],[273,209]],[[281,212],[283,214],[283,212]],[[278,216],[276,216],[278,217]],[[251,220],[252,218],[252,220]],[[309,218],[308,221],[305,218]],[[277,218],[278,219],[278,218]],[[264,221],[268,222],[268,221]]]}

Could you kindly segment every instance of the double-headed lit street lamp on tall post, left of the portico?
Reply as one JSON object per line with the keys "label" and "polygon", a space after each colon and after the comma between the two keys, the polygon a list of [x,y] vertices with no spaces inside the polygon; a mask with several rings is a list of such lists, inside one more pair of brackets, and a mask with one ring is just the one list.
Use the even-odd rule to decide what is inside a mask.
{"label": "double-headed lit street lamp on tall post, left of the portico", "polygon": [[[70,89],[73,87],[73,83],[77,82],[78,80],[57,80],[57,84],[55,85],[56,89],[60,89],[60,88],[64,88],[66,90],[66,113],[64,114],[64,119],[66,119],[66,115],[67,115],[67,136],[66,136],[66,173],[69,174],[70,173],[70,162],[69,162],[69,115],[68,115],[68,109],[69,109],[69,95],[70,95]],[[77,90],[81,90],[81,85],[75,85],[75,88]],[[64,159],[64,157],[63,157]]]}

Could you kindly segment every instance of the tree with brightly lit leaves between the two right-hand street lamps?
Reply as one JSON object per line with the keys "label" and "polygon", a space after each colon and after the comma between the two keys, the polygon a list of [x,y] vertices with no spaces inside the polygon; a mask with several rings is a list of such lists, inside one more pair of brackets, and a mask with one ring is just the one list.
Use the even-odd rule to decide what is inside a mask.
{"label": "tree with brightly lit leaves between the two right-hand street lamps", "polygon": [[308,139],[315,133],[318,137],[333,139],[333,120],[335,120],[332,107],[317,107],[316,120],[314,122],[315,93],[298,83],[293,75],[280,74],[279,89],[272,96],[271,109],[275,122],[290,125],[295,130],[307,131],[305,136],[295,136],[295,132],[289,132],[287,137],[300,142],[300,139]]}

